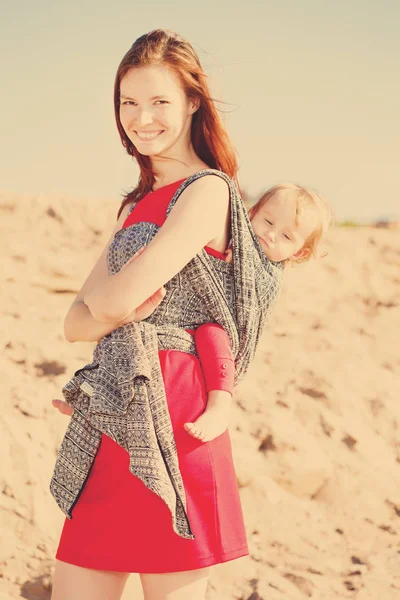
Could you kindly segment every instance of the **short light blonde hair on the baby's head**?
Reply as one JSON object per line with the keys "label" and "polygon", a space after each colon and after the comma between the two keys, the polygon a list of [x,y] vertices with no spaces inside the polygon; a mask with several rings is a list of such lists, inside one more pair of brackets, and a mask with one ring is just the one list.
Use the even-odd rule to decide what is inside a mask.
{"label": "short light blonde hair on the baby's head", "polygon": [[294,183],[281,183],[274,185],[272,188],[267,190],[261,198],[254,204],[249,210],[250,220],[254,215],[262,208],[268,200],[276,194],[285,194],[285,198],[288,196],[296,202],[296,216],[295,223],[298,225],[299,219],[304,214],[312,214],[316,217],[315,229],[308,236],[304,242],[303,253],[299,258],[292,258],[291,262],[302,263],[311,258],[321,258],[326,256],[322,254],[319,249],[319,244],[322,236],[326,233],[329,227],[333,223],[333,212],[328,202],[314,190],[303,187]]}

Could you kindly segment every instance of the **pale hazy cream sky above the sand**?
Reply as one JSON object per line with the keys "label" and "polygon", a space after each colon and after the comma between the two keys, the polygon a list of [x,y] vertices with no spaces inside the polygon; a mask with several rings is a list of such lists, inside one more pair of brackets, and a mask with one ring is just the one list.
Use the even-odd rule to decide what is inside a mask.
{"label": "pale hazy cream sky above the sand", "polygon": [[166,28],[200,56],[241,187],[311,186],[338,221],[400,220],[398,0],[0,0],[0,190],[115,198],[138,170],[113,83]]}

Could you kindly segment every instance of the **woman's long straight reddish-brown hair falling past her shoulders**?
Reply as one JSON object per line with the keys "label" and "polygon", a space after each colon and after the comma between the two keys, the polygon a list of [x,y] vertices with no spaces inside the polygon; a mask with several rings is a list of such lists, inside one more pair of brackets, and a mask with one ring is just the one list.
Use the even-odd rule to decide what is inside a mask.
{"label": "woman's long straight reddish-brown hair falling past her shoulders", "polygon": [[155,29],[139,37],[123,57],[115,77],[114,110],[121,142],[127,153],[134,157],[140,168],[137,186],[125,195],[118,217],[124,206],[138,202],[151,192],[155,182],[151,160],[139,154],[122,127],[120,109],[120,83],[134,67],[165,64],[178,75],[189,98],[200,100],[192,117],[191,140],[199,158],[212,169],[223,171],[236,179],[238,170],[236,152],[217,112],[207,83],[207,76],[191,44],[178,34]]}

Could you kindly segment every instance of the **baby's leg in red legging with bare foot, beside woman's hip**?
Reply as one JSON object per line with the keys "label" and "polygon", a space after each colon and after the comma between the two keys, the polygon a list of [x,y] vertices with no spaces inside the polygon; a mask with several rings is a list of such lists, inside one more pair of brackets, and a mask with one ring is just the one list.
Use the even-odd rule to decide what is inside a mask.
{"label": "baby's leg in red legging with bare foot, beside woman's hip", "polygon": [[201,325],[194,338],[208,397],[204,413],[194,423],[186,423],[185,429],[201,441],[210,442],[229,424],[235,363],[229,336],[220,325]]}

